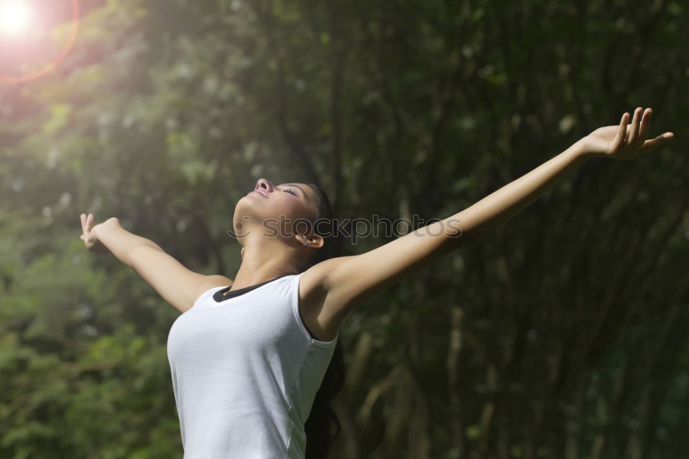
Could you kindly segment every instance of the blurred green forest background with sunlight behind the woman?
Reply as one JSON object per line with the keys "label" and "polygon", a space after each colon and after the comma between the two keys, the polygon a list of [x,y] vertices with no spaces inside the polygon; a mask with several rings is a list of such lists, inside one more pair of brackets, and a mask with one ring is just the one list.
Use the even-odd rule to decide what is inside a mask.
{"label": "blurred green forest background with sunlight behind the woman", "polygon": [[345,320],[330,457],[689,456],[686,3],[88,0],[73,45],[76,2],[25,3],[0,76],[68,52],[0,81],[0,458],[182,456],[179,313],[85,250],[82,212],[234,278],[259,177],[446,218],[637,106],[675,139],[587,161]]}

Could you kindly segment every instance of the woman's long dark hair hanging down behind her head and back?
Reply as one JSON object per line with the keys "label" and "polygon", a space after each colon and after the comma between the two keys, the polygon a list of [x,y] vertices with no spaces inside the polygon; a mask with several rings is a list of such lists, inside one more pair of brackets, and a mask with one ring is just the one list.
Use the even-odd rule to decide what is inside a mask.
{"label": "woman's long dark hair hanging down behind her head and back", "polygon": [[[316,250],[302,271],[329,258],[342,255],[342,238],[336,231],[335,215],[327,194],[313,183],[308,185],[316,192],[317,224],[313,231],[323,236],[323,247]],[[327,230],[326,230],[327,229]],[[342,343],[338,338],[330,360],[328,369],[320,384],[320,389],[313,399],[311,413],[306,420],[305,431],[307,437],[306,459],[325,459],[330,451],[331,443],[340,436],[340,420],[330,406],[330,402],[342,390],[345,384],[345,359]]]}

